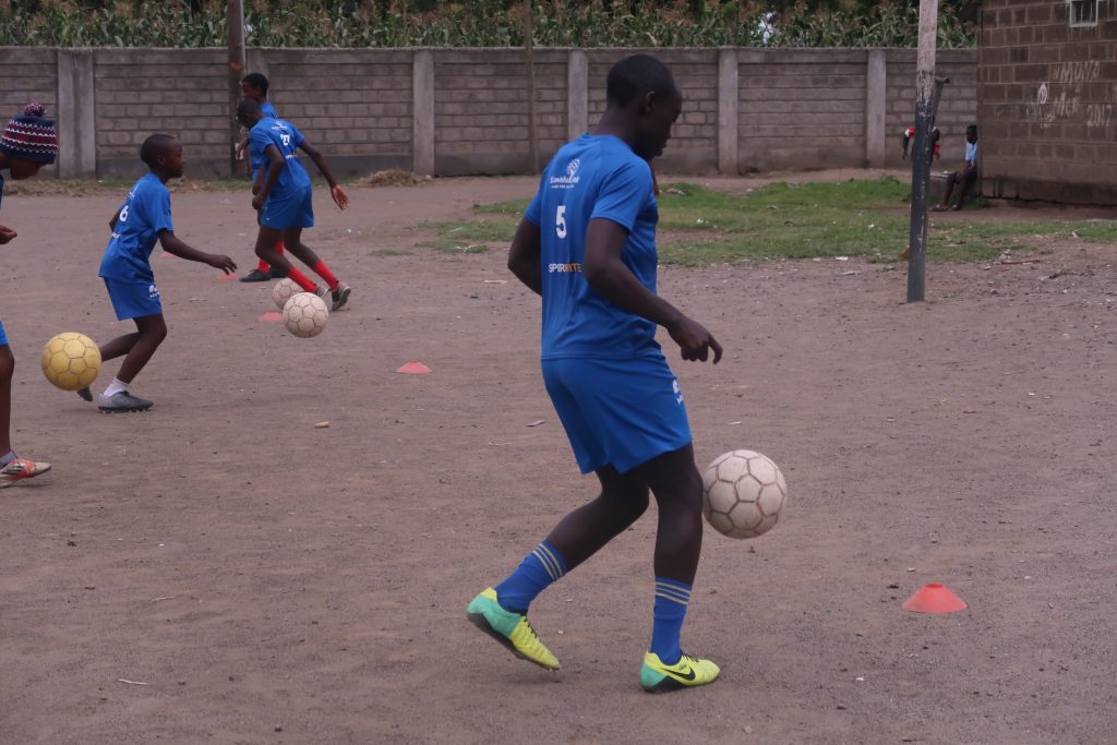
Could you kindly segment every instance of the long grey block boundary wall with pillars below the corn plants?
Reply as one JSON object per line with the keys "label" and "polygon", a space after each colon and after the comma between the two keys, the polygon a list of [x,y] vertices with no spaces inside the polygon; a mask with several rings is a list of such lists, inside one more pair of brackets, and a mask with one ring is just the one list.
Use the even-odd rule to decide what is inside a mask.
{"label": "long grey block boundary wall with pillars below the corn plants", "polygon": [[[1110,3],[1117,4],[1117,3]],[[541,160],[594,124],[605,76],[630,49],[536,49]],[[655,49],[685,94],[657,169],[746,173],[899,164],[915,108],[915,50]],[[944,159],[976,115],[974,50],[939,52]],[[531,170],[519,49],[249,49],[248,69],[338,174]],[[0,115],[30,98],[57,113],[61,175],[134,175],[152,132],[179,136],[195,176],[227,175],[232,143],[222,49],[0,47]]]}

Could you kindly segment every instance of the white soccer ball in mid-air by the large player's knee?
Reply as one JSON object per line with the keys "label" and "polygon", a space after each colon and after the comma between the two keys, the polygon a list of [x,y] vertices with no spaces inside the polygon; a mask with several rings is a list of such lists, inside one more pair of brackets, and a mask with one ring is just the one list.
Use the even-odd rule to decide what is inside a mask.
{"label": "white soccer ball in mid-air by the large player's knee", "polygon": [[701,512],[714,529],[731,538],[755,538],[780,519],[787,483],[767,456],[731,450],[703,472]]}

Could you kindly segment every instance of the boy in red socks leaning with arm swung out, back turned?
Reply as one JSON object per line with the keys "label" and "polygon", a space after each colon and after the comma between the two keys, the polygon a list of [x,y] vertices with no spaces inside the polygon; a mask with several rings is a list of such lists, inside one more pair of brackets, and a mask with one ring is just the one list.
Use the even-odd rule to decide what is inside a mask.
{"label": "boy in red socks leaning with arm swung out, back turned", "polygon": [[[237,107],[237,120],[248,128],[250,157],[264,161],[260,174],[252,184],[252,208],[260,212],[256,255],[271,266],[273,276],[289,277],[305,292],[315,293],[323,299],[328,294],[331,309],[341,309],[349,302],[349,285],[338,281],[325,261],[303,242],[303,229],[314,226],[314,208],[311,175],[299,162],[298,151],[305,152],[318,166],[330,184],[330,195],[343,210],[349,207],[345,190],[337,183],[325,156],[290,122],[265,116],[260,105],[248,98]],[[287,251],[326,280],[326,287],[293,267],[285,256],[275,250],[280,238]]]}

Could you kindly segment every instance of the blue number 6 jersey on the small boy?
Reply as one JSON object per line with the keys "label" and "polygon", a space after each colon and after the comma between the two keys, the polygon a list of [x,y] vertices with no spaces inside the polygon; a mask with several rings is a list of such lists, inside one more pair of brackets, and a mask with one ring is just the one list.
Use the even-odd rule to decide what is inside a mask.
{"label": "blue number 6 jersey on the small boy", "polygon": [[136,181],[121,206],[98,276],[125,283],[153,283],[151,252],[163,230],[174,231],[171,192],[157,175],[147,173]]}

